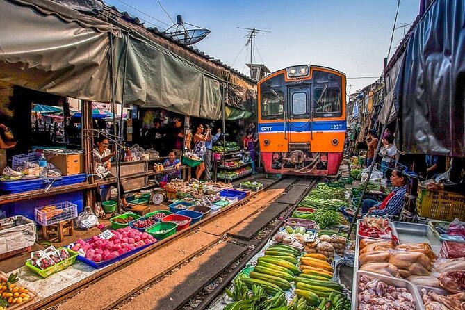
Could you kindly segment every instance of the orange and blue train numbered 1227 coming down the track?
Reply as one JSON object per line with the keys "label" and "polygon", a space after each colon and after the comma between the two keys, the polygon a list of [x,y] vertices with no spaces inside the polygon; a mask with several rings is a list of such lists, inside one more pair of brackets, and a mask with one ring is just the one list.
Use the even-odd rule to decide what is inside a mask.
{"label": "orange and blue train numbered 1227 coming down the track", "polygon": [[345,74],[295,65],[258,84],[258,131],[266,173],[337,174],[345,142]]}

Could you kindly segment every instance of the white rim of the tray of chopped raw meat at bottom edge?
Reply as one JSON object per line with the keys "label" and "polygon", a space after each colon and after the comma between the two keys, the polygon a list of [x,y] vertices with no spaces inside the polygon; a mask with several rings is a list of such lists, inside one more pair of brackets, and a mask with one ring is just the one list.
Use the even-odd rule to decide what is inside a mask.
{"label": "white rim of the tray of chopped raw meat at bottom edge", "polygon": [[[414,284],[411,282],[405,280],[405,279],[399,279],[395,277],[387,277],[385,275],[378,275],[373,272],[366,272],[366,271],[357,271],[354,276],[354,289],[352,289],[352,310],[357,310],[359,309],[359,279],[360,277],[364,275],[366,277],[374,278],[374,279],[379,279],[382,282],[385,282],[386,284],[393,285],[398,288],[407,288],[407,291],[411,293],[411,295],[414,297],[414,302],[415,302],[415,310],[424,310],[425,308],[423,307],[423,301],[421,300],[420,295],[418,294],[418,290]],[[413,309],[412,309],[413,310]]]}

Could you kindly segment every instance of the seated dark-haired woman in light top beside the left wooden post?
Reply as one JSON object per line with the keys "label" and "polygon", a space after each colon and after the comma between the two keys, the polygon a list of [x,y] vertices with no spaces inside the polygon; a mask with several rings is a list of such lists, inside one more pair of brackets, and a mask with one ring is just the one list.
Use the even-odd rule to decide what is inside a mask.
{"label": "seated dark-haired woman in light top beside the left wooden post", "polygon": [[[108,138],[104,136],[99,136],[97,138],[97,147],[93,149],[92,151],[92,164],[94,167],[94,179],[95,180],[101,180],[101,179],[108,179],[115,177],[113,174],[110,172],[111,168],[111,158],[115,156],[115,152],[111,152],[110,149],[108,149]],[[121,202],[123,207],[127,206],[126,199],[124,198],[124,188],[122,186],[122,183],[120,182],[119,184],[120,188],[120,197],[122,197]],[[97,191],[97,202],[102,202],[104,200],[107,200],[110,194],[111,188],[104,187],[101,188],[99,191]]]}

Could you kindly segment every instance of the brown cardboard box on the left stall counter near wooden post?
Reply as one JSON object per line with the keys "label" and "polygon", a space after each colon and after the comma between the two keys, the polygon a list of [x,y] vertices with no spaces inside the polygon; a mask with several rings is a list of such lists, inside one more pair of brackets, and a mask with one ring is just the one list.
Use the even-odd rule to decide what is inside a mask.
{"label": "brown cardboard box on the left stall counter near wooden post", "polygon": [[47,158],[47,163],[54,165],[63,175],[84,173],[84,154],[82,152],[46,149],[44,156]]}

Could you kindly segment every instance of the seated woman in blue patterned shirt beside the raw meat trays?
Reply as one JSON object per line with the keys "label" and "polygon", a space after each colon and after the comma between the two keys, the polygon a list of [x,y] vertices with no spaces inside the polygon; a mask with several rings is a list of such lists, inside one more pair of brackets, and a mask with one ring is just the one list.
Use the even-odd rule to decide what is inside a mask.
{"label": "seated woman in blue patterned shirt beside the raw meat trays", "polygon": [[393,192],[384,198],[383,202],[365,199],[361,206],[362,214],[400,215],[404,206],[404,196],[407,191],[407,176],[399,170],[393,170],[391,182],[395,187]]}

